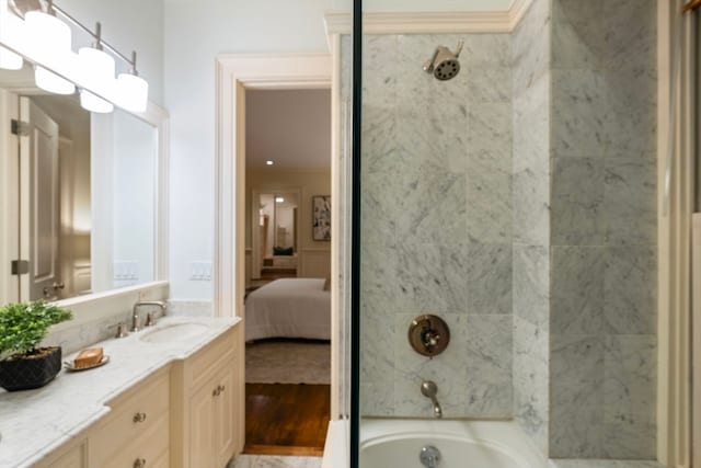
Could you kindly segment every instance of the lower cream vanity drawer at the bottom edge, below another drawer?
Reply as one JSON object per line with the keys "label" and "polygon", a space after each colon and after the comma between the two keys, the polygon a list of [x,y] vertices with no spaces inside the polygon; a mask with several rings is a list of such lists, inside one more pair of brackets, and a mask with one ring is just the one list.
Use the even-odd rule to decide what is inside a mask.
{"label": "lower cream vanity drawer at the bottom edge, below another drawer", "polygon": [[[106,459],[104,468],[152,468],[168,466],[169,418],[163,414],[149,431]],[[163,460],[165,454],[165,460]],[[140,460],[140,465],[139,465]],[[163,464],[165,461],[165,464]]]}

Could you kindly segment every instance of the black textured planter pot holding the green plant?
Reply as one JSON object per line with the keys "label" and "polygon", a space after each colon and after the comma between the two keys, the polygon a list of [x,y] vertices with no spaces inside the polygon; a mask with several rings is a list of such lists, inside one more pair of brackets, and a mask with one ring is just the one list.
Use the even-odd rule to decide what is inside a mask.
{"label": "black textured planter pot holding the green plant", "polygon": [[8,391],[44,387],[61,369],[61,349],[45,347],[42,356],[0,361],[0,387]]}

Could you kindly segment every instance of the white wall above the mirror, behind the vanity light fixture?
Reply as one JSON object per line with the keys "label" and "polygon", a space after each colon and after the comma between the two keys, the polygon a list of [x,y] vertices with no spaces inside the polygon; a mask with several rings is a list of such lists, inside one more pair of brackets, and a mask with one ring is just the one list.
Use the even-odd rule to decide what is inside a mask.
{"label": "white wall above the mirror, behind the vanity light fixture", "polygon": [[[56,4],[91,28],[100,21],[103,38],[127,57],[136,50],[150,100],[163,104],[163,0],[57,0]],[[81,36],[73,49],[88,43]]]}

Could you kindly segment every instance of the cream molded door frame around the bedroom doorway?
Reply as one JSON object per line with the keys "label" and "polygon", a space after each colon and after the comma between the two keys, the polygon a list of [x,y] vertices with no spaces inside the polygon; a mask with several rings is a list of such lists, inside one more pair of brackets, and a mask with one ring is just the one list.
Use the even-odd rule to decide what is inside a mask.
{"label": "cream molded door frame around the bedroom doorway", "polygon": [[[337,44],[336,44],[337,46]],[[214,315],[244,319],[245,293],[245,91],[248,89],[331,89],[332,196],[337,194],[340,79],[332,54],[222,54],[216,57],[216,156]],[[336,198],[338,199],[338,198]],[[337,204],[336,204],[337,205]],[[337,216],[332,216],[337,219]],[[338,237],[336,237],[338,239]],[[338,242],[331,254],[331,414],[338,411]],[[237,356],[244,358],[244,344]],[[237,378],[243,381],[244,365]],[[245,396],[237,402],[245,414]],[[241,422],[243,430],[243,421]]]}

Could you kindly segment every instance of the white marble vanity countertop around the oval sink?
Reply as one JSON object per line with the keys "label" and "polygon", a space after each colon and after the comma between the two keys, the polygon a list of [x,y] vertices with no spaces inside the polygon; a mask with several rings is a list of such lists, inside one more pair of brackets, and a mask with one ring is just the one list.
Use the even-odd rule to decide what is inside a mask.
{"label": "white marble vanity countertop around the oval sink", "polygon": [[[203,323],[202,334],[169,343],[140,336],[95,343],[110,363],[90,370],[66,369],[47,386],[9,392],[0,389],[0,467],[28,467],[78,436],[110,412],[105,403],[175,359],[184,359],[240,322],[238,318],[165,317],[154,328]],[[153,329],[148,329],[153,330]],[[73,355],[64,356],[71,361]]]}

